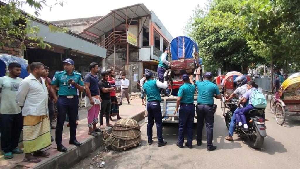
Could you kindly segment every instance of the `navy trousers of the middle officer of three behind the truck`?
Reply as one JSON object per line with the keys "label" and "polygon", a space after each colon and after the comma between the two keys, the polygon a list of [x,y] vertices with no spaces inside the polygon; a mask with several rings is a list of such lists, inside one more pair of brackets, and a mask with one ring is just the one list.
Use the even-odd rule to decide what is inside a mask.
{"label": "navy trousers of the middle officer of three behind the truck", "polygon": [[193,144],[193,123],[195,116],[195,105],[181,104],[178,122],[178,143],[183,145],[184,130],[187,130],[187,144]]}

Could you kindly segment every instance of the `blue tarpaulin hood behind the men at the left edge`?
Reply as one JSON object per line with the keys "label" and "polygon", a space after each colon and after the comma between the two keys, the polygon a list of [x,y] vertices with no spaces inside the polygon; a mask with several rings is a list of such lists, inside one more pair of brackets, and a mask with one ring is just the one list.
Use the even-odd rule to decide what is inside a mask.
{"label": "blue tarpaulin hood behind the men at the left edge", "polygon": [[29,74],[27,73],[26,67],[28,63],[25,59],[20,57],[12,56],[9,54],[0,54],[0,77],[5,76],[6,68],[10,63],[19,63],[21,65],[21,75],[20,78],[26,78]]}

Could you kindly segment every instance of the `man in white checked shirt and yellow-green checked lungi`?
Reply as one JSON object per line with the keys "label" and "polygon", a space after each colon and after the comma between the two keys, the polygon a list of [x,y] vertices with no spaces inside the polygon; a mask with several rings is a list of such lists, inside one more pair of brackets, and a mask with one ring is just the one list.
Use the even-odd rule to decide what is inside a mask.
{"label": "man in white checked shirt and yellow-green checked lungi", "polygon": [[[25,157],[23,161],[38,163],[41,157],[50,154],[41,151],[51,145],[50,123],[48,114],[48,90],[45,80],[41,78],[45,72],[44,64],[30,64],[31,74],[19,84],[16,96],[17,104],[22,108],[24,117],[23,144]],[[33,152],[33,154],[31,154]]]}

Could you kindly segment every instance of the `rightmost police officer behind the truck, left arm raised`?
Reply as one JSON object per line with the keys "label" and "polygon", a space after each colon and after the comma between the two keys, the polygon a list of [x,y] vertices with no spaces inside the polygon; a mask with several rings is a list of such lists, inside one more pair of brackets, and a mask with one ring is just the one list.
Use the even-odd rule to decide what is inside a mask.
{"label": "rightmost police officer behind the truck, left arm raised", "polygon": [[206,72],[204,74],[204,81],[199,81],[200,70],[196,72],[196,85],[198,89],[198,98],[197,98],[197,145],[202,144],[202,129],[203,122],[205,119],[206,132],[207,132],[207,151],[212,151],[217,148],[213,146],[213,128],[214,128],[214,113],[217,106],[214,104],[214,97],[221,99],[220,91],[217,85],[211,82],[212,74],[211,72]]}

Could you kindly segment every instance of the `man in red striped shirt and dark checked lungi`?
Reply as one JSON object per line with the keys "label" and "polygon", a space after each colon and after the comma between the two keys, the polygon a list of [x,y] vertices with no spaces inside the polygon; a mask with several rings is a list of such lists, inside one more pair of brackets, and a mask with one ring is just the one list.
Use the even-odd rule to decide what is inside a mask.
{"label": "man in red striped shirt and dark checked lungi", "polygon": [[116,97],[116,79],[115,77],[115,71],[108,69],[107,73],[109,75],[107,81],[110,83],[110,85],[112,85],[112,87],[115,88],[114,91],[110,92],[110,98],[112,101],[112,104],[110,106],[110,121],[113,121],[112,116],[117,116],[117,119],[121,119],[122,117],[120,117],[119,115],[119,105],[118,105],[118,99]]}

